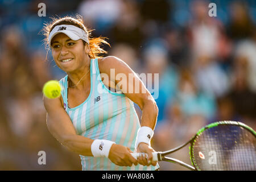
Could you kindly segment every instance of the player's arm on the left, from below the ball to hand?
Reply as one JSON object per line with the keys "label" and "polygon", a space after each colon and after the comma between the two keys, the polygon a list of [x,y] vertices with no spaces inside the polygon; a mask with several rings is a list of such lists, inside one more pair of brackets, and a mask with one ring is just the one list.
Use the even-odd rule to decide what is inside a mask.
{"label": "player's arm on the left, from below the ball to hand", "polygon": [[[131,166],[137,165],[137,160],[130,158],[126,155],[129,148],[113,144],[109,140],[93,140],[76,134],[69,115],[61,105],[61,98],[48,99],[43,98],[44,107],[47,110],[47,127],[49,132],[61,144],[69,150],[85,156],[106,156],[109,158],[109,151],[119,151],[121,157],[115,157],[112,162],[118,166]],[[101,142],[104,142],[100,150]]]}

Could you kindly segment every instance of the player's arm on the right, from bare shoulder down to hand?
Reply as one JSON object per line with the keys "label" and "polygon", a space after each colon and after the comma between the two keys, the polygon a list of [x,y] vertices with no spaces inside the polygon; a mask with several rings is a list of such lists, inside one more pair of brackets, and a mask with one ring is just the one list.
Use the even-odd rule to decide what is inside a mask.
{"label": "player's arm on the right, from bare shoulder down to hand", "polygon": [[[156,105],[154,98],[151,96],[150,92],[148,92],[146,86],[144,86],[143,82],[137,76],[137,74],[124,61],[114,56],[108,56],[104,59],[101,59],[99,63],[99,69],[101,73],[106,73],[110,79],[114,79],[117,88],[121,89],[122,92],[128,98],[130,98],[131,101],[135,102],[141,108],[141,129],[146,129],[146,131],[151,129],[152,132],[155,128],[156,119],[158,117],[158,106]],[[112,78],[111,74],[113,73],[110,73],[110,69],[114,69],[115,76],[117,76],[119,73],[125,75],[126,81],[122,80],[121,78],[119,80],[118,77]],[[129,79],[129,74],[130,77],[133,77],[134,79]],[[129,90],[133,90],[133,92],[130,93]],[[152,133],[150,139],[151,138]],[[152,152],[154,152],[154,150],[150,147],[150,139],[147,140],[146,143],[144,143],[139,142],[137,138],[137,142],[139,142],[137,144],[137,152],[147,153],[148,159],[152,160]],[[141,158],[138,161],[143,165],[148,165],[146,158]],[[156,163],[154,162],[152,163],[152,165],[155,164]]]}

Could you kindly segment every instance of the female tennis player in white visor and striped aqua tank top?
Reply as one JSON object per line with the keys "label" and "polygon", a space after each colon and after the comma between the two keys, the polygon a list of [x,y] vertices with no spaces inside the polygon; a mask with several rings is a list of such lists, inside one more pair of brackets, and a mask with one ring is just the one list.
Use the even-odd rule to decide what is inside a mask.
{"label": "female tennis player in white visor and striped aqua tank top", "polygon": [[[43,30],[56,65],[67,73],[59,81],[61,97],[43,98],[53,137],[80,154],[82,170],[158,169],[150,146],[158,107],[139,77],[121,59],[99,56],[106,53],[100,45],[108,42],[92,38],[81,16],[53,19]],[[136,81],[139,92],[127,93]],[[141,125],[134,102],[142,109]],[[131,152],[148,156],[136,160]]]}

